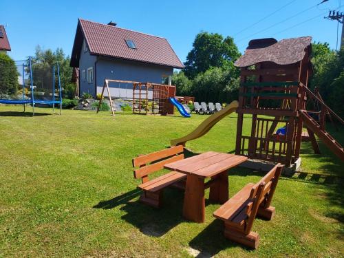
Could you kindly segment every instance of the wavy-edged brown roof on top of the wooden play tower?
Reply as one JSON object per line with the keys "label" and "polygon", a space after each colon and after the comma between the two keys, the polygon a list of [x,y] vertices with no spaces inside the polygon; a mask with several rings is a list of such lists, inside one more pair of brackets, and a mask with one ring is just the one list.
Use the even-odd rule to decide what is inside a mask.
{"label": "wavy-edged brown roof on top of the wooden play tower", "polygon": [[261,62],[273,62],[277,65],[297,63],[305,56],[305,49],[312,42],[311,36],[282,39],[255,39],[248,43],[245,54],[236,62],[237,67],[247,67]]}

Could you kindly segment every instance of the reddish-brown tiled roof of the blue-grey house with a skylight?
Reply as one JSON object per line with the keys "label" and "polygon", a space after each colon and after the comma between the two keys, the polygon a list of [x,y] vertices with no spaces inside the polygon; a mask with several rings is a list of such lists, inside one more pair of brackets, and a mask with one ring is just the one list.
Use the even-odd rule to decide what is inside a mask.
{"label": "reddish-brown tiled roof of the blue-grey house with a skylight", "polygon": [[[79,24],[91,54],[184,68],[164,38],[83,19],[79,19]],[[76,38],[77,35],[78,30]],[[136,49],[129,48],[126,39],[132,40]],[[80,44],[80,40],[78,43],[74,41],[74,47],[76,44]],[[72,58],[75,52],[73,50]]]}

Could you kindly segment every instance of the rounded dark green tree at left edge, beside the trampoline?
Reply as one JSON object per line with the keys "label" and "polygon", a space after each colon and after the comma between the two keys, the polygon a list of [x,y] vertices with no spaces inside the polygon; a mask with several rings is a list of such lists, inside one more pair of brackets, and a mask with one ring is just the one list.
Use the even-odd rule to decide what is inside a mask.
{"label": "rounded dark green tree at left edge, beside the trampoline", "polygon": [[0,52],[0,95],[14,95],[19,90],[19,72],[13,59]]}

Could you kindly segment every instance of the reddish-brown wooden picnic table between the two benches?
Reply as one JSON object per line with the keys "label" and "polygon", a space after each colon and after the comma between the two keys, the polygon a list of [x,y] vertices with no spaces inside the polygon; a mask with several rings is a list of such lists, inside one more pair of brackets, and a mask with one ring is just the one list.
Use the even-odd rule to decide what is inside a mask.
{"label": "reddish-brown wooden picnic table between the two benches", "polygon": [[[183,215],[202,223],[205,218],[204,190],[210,188],[209,200],[224,204],[228,201],[227,170],[247,160],[247,157],[208,151],[191,158],[165,164],[165,169],[186,174]],[[211,178],[205,183],[206,178]]]}

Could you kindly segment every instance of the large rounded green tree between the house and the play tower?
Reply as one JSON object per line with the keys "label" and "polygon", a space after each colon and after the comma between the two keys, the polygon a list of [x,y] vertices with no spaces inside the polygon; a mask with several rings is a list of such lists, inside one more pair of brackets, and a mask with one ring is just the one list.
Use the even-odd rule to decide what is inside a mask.
{"label": "large rounded green tree between the house and the play tower", "polygon": [[230,36],[224,39],[217,33],[201,32],[197,34],[193,49],[186,57],[184,73],[189,79],[193,79],[210,67],[230,69],[239,56],[237,45]]}

